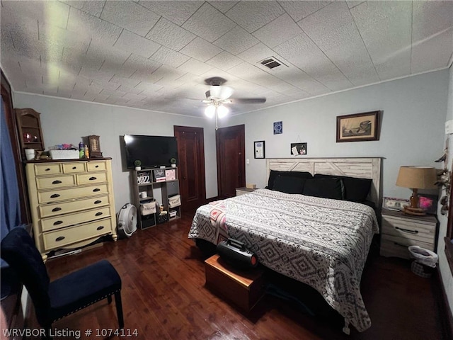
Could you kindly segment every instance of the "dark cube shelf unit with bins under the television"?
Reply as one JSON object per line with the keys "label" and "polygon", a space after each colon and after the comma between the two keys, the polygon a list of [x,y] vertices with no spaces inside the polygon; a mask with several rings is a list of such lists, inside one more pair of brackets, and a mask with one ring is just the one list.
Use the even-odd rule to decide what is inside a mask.
{"label": "dark cube shelf unit with bins under the television", "polygon": [[[178,169],[176,167],[133,170],[132,187],[134,189],[134,205],[137,208],[137,225],[141,229],[154,227],[161,222],[174,220],[181,216],[180,203],[177,203],[179,204],[177,206],[171,204],[179,196]],[[159,206],[156,206],[156,212],[150,213],[153,210],[145,210],[148,211],[148,214],[143,215],[141,205],[146,204],[146,208],[154,208],[157,203],[154,198],[154,189],[159,188],[162,196],[162,202],[159,202],[159,205],[164,205],[164,211],[167,212],[166,216],[161,215]],[[171,211],[173,211],[173,214],[176,212],[174,217],[169,217]]]}

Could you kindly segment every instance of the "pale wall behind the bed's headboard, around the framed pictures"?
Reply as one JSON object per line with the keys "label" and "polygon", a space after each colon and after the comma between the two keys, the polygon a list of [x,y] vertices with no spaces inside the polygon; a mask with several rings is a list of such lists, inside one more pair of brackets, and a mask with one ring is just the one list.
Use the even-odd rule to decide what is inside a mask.
{"label": "pale wall behind the bed's headboard, around the framed pictures", "polygon": [[[253,141],[265,140],[265,157],[293,157],[290,144],[307,142],[306,157],[384,157],[384,196],[409,198],[395,186],[401,165],[439,166],[447,111],[448,70],[420,74],[338,94],[312,98],[222,120],[246,125],[246,181],[266,185],[265,159],[253,158]],[[379,141],[336,142],[336,116],[382,111]],[[273,122],[283,133],[273,135]],[[297,156],[304,157],[304,156]]]}

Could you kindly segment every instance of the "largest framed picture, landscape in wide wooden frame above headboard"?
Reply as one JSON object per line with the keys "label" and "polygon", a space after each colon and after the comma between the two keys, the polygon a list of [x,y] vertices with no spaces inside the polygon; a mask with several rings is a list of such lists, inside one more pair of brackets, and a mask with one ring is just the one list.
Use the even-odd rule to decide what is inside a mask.
{"label": "largest framed picture, landscape in wide wooden frame above headboard", "polygon": [[380,111],[338,115],[337,143],[379,140],[379,115]]}

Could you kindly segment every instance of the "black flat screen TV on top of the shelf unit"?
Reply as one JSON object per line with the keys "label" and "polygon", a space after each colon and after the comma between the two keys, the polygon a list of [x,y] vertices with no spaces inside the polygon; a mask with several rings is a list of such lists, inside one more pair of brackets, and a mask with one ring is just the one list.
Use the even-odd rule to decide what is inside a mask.
{"label": "black flat screen TV on top of the shelf unit", "polygon": [[142,168],[171,166],[170,159],[178,161],[176,137],[125,135],[125,154],[127,169],[134,169],[139,159]]}

